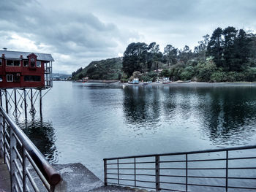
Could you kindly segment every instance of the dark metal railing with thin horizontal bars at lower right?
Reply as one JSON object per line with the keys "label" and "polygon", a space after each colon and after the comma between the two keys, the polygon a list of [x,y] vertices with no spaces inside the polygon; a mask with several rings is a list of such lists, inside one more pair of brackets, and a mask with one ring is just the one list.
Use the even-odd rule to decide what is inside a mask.
{"label": "dark metal railing with thin horizontal bars at lower right", "polygon": [[155,191],[256,191],[256,145],[104,158],[105,185]]}

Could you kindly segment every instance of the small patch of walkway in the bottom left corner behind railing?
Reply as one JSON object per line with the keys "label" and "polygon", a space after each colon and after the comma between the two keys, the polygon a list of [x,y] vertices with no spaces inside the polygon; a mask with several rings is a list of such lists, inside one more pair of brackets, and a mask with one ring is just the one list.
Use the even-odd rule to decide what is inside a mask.
{"label": "small patch of walkway in the bottom left corner behind railing", "polygon": [[10,172],[7,169],[7,165],[4,164],[4,159],[0,158],[0,192],[10,192]]}

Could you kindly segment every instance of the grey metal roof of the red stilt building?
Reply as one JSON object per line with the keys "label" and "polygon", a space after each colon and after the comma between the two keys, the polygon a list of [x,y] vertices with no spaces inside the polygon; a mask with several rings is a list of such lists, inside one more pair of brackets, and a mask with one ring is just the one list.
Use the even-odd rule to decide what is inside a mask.
{"label": "grey metal roof of the red stilt building", "polygon": [[[20,59],[20,55],[23,55],[23,58],[27,58],[31,52],[21,52],[21,51],[12,51],[12,50],[0,50],[0,58],[1,55],[4,54],[5,58],[16,58]],[[48,53],[34,53],[37,55],[37,60],[40,61],[54,61],[52,55]]]}

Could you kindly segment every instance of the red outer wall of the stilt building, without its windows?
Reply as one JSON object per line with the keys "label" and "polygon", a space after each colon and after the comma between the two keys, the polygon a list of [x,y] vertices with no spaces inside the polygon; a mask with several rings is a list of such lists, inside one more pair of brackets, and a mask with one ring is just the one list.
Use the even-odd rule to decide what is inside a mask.
{"label": "red outer wall of the stilt building, without its windows", "polygon": [[[23,60],[20,66],[6,66],[6,60],[2,59],[0,66],[0,75],[3,81],[0,82],[0,88],[44,88],[45,87],[45,62],[41,61],[41,67],[23,66]],[[7,74],[20,73],[20,82],[7,82]],[[24,81],[24,75],[37,75],[41,77],[41,81]]]}

